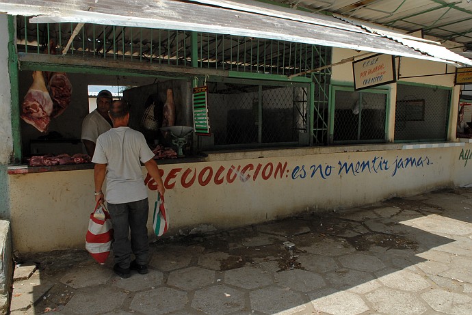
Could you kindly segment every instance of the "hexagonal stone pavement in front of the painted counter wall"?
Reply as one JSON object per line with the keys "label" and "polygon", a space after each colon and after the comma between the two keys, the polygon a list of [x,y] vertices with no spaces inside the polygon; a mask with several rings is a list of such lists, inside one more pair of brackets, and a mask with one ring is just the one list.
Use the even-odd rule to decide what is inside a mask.
{"label": "hexagonal stone pavement in front of the painted counter wall", "polygon": [[129,279],[111,257],[38,254],[16,269],[11,314],[470,315],[471,208],[471,188],[443,189],[161,240]]}

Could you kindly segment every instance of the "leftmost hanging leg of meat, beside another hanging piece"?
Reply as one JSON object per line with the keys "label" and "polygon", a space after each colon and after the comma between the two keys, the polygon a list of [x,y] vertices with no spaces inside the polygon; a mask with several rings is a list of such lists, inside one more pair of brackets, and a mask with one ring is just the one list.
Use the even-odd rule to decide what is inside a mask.
{"label": "leftmost hanging leg of meat, beside another hanging piece", "polygon": [[33,84],[29,87],[21,108],[21,118],[38,131],[47,131],[53,112],[53,100],[49,96],[41,71],[33,71]]}

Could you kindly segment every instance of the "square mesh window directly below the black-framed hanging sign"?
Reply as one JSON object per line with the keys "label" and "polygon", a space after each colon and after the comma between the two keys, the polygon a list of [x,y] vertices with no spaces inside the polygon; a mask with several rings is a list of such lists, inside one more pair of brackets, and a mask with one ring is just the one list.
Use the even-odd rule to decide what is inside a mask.
{"label": "square mesh window directly below the black-framed hanging sign", "polygon": [[335,90],[333,140],[361,143],[385,140],[386,92]]}

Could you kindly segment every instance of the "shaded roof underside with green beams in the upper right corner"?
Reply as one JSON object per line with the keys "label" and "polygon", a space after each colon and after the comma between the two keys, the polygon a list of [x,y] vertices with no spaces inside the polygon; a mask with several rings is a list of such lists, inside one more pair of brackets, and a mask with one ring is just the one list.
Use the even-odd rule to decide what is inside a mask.
{"label": "shaded roof underside with green beams in the upper right corner", "polygon": [[274,0],[291,8],[326,11],[461,43],[472,51],[472,1]]}

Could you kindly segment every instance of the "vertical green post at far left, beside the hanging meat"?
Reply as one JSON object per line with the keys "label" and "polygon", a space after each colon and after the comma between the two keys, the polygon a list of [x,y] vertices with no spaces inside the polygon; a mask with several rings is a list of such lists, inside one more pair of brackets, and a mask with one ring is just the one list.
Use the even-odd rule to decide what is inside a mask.
{"label": "vertical green post at far left, beside the hanging meat", "polygon": [[10,96],[12,109],[12,137],[14,163],[23,157],[21,150],[20,97],[18,95],[18,57],[16,55],[15,16],[8,15],[8,70],[10,72]]}

